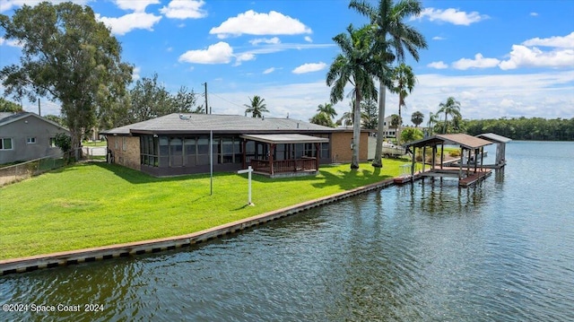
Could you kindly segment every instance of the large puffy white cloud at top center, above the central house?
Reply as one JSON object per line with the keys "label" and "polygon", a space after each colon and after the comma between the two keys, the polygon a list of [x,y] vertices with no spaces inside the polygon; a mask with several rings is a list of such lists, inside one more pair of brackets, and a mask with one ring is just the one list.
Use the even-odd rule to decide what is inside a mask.
{"label": "large puffy white cloud at top center, above the central house", "polygon": [[216,34],[218,38],[224,39],[242,34],[297,35],[311,33],[311,29],[297,19],[286,16],[283,13],[275,11],[256,13],[253,10],[249,10],[222,22],[218,27],[209,30],[209,33]]}

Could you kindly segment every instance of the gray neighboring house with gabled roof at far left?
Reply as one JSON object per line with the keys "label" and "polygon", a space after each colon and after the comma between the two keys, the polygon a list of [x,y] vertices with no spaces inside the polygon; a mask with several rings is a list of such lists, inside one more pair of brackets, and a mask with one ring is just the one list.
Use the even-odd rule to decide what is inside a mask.
{"label": "gray neighboring house with gabled roof at far left", "polygon": [[0,164],[61,155],[55,144],[58,133],[70,134],[65,127],[34,113],[0,113]]}

